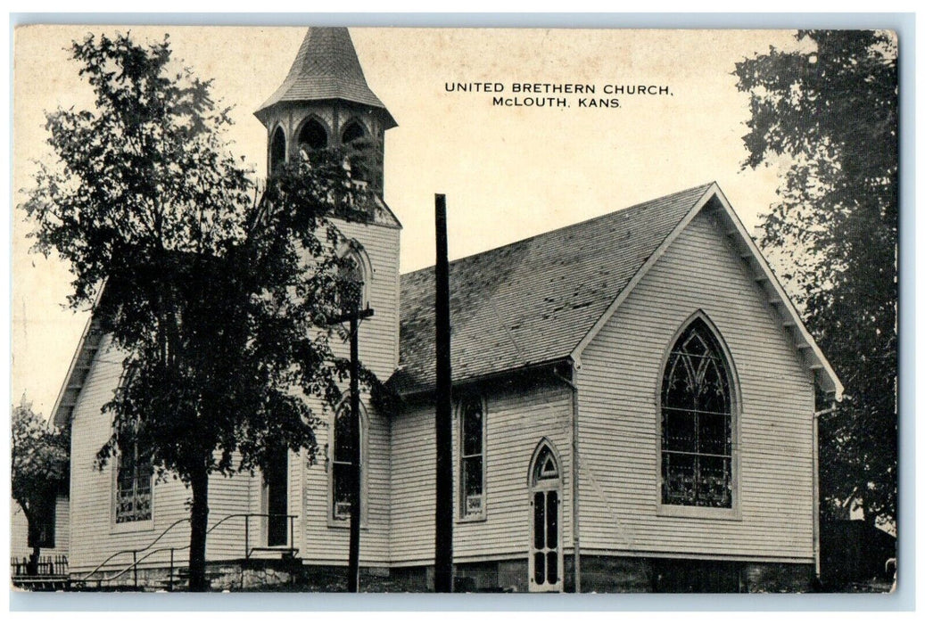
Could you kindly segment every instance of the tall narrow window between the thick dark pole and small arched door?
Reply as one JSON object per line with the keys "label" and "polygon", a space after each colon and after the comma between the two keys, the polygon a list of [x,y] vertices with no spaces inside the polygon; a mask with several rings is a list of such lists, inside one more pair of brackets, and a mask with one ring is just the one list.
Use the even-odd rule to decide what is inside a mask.
{"label": "tall narrow window between the thick dark pole and small arched door", "polygon": [[485,405],[481,397],[460,402],[460,518],[485,518]]}

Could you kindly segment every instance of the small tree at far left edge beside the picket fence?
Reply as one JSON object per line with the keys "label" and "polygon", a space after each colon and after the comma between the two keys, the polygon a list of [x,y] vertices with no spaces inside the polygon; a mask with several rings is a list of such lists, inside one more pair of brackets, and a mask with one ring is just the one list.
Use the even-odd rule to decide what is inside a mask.
{"label": "small tree at far left edge beside the picket fence", "polygon": [[58,429],[32,411],[25,398],[13,408],[11,425],[12,496],[29,526],[28,570],[36,574],[43,529],[54,514],[58,492],[68,483],[70,436],[67,427]]}

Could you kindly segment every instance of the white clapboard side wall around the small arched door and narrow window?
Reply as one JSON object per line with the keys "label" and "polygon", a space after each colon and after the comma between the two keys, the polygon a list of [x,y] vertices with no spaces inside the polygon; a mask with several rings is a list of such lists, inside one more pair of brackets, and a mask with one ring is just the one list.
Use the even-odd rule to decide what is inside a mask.
{"label": "white clapboard side wall around the small arched door and narrow window", "polygon": [[[485,520],[455,521],[456,560],[526,557],[530,459],[549,438],[560,453],[562,544],[572,547],[572,392],[561,384],[485,389]],[[418,404],[392,422],[392,564],[433,563],[434,406]],[[459,516],[459,416],[453,413],[453,490]]]}

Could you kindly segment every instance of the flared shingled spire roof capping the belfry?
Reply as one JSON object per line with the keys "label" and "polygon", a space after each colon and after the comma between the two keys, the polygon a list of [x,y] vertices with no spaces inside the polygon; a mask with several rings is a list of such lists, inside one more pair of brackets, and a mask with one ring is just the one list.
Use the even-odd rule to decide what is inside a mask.
{"label": "flared shingled spire roof capping the belfry", "polygon": [[282,102],[317,100],[345,100],[380,108],[386,116],[387,129],[397,125],[386,105],[366,84],[346,28],[310,28],[286,80],[254,115],[262,118],[267,108]]}

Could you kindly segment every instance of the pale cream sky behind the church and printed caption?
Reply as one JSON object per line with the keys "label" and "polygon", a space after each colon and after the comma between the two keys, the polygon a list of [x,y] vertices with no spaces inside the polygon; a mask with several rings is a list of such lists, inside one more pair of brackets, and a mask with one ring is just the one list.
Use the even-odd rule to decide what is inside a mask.
{"label": "pale cream sky behind the church and printed caption", "polygon": [[[68,267],[29,252],[15,207],[35,161],[53,159],[44,113],[90,108],[65,49],[88,32],[165,33],[233,106],[232,150],[265,175],[266,130],[253,111],[289,71],[304,28],[30,26],[15,32],[13,76],[12,382],[49,415],[85,310],[66,307]],[[746,227],[776,200],[783,163],[743,169],[747,95],[734,64],[796,46],[791,31],[351,29],[366,80],[398,122],[386,133],[385,201],[398,216],[401,272],[434,263],[434,194],[448,204],[450,260],[716,181]],[[461,92],[456,83],[499,84]],[[593,95],[513,92],[515,84],[590,84]],[[448,84],[451,90],[448,90]],[[645,85],[652,94],[629,94]],[[605,93],[618,91],[622,93]],[[497,87],[492,87],[497,88]],[[663,89],[664,88],[664,89]],[[564,89],[564,88],[563,88]],[[527,97],[567,105],[513,104]],[[580,100],[617,99],[619,107]]]}

